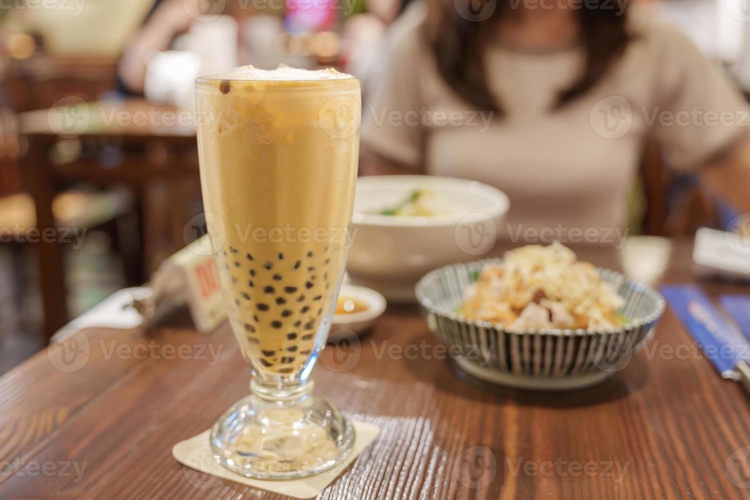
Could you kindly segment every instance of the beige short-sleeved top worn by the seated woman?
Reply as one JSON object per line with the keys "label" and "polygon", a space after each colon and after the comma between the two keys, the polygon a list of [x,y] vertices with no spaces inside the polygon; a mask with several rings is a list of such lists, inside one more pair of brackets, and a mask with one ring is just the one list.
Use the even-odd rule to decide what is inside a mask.
{"label": "beige short-sleeved top worn by the seated woman", "polygon": [[557,91],[577,75],[582,49],[538,55],[490,47],[490,89],[507,114],[471,111],[437,73],[415,15],[407,28],[397,26],[389,70],[362,110],[363,142],[431,175],[505,191],[511,211],[501,237],[535,234],[521,229],[621,230],[647,137],[674,168],[695,169],[750,122],[720,69],[676,28],[643,19],[631,22],[637,38],[613,70],[551,112]]}

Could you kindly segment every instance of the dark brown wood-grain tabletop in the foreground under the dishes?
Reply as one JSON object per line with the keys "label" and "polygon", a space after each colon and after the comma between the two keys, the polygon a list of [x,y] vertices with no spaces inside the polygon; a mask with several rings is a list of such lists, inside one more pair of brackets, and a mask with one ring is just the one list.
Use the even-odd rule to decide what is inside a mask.
{"label": "dark brown wood-grain tabletop in the foreground under the dishes", "polygon": [[[596,264],[619,268],[613,250],[577,250]],[[676,247],[664,282],[691,281],[689,251]],[[739,286],[705,288],[712,295],[748,292]],[[186,323],[162,328],[151,339],[101,329],[73,338],[88,355],[71,357],[70,373],[55,367],[62,366],[62,354],[73,352],[66,343],[65,353],[52,346],[0,379],[0,463],[17,460],[33,466],[31,472],[49,464],[48,476],[4,471],[0,497],[279,498],[202,476],[170,454],[172,445],[210,427],[248,393],[248,369],[226,326],[207,337]],[[317,390],[382,432],[320,498],[750,495],[730,479],[742,478],[739,472],[750,479],[748,463],[740,471],[741,462],[732,460],[742,460],[745,455],[736,451],[750,446],[750,400],[697,351],[670,357],[641,350],[613,379],[555,394],[492,387],[438,356],[407,355],[415,349],[407,346],[437,353],[438,345],[416,309],[401,307],[389,309],[359,349],[323,352],[314,370]],[[649,351],[691,345],[667,310]],[[169,356],[169,349],[180,346],[193,356]],[[136,348],[145,349],[145,359],[128,355]],[[74,466],[83,469],[80,477]]]}

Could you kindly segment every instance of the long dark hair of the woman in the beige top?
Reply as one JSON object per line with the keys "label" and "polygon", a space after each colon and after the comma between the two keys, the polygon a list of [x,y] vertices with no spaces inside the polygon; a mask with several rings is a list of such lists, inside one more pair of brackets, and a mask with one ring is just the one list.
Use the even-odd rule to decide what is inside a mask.
{"label": "long dark hair of the woman in the beige top", "polygon": [[[428,23],[431,28],[428,28],[428,36],[440,74],[456,94],[473,106],[502,114],[502,103],[497,102],[487,85],[484,49],[499,19],[508,15],[511,0],[498,0],[493,13],[482,21],[467,20],[454,0],[437,1],[440,9]],[[475,0],[459,1],[468,4]],[[601,6],[598,1],[582,1],[578,5],[585,65],[579,78],[560,92],[556,108],[586,93],[622,54],[629,39],[625,28],[626,4],[622,2],[627,0],[603,2]]]}

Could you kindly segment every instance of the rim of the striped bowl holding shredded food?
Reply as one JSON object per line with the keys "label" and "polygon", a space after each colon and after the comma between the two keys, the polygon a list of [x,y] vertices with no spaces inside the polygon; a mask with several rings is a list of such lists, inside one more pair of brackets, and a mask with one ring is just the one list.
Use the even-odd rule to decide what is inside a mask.
{"label": "rim of the striped bowl holding shredded food", "polygon": [[466,268],[468,265],[481,265],[481,267],[484,267],[484,265],[487,264],[500,264],[502,263],[502,258],[490,258],[490,259],[481,259],[476,260],[473,262],[463,262],[463,263],[455,263],[455,264],[449,264],[444,265],[443,267],[434,269],[433,271],[430,271],[428,274],[425,274],[419,282],[416,284],[415,287],[415,294],[417,297],[417,301],[419,304],[425,308],[425,310],[430,311],[431,313],[441,316],[443,318],[447,318],[452,320],[453,322],[463,323],[465,325],[469,326],[475,326],[478,328],[487,328],[490,330],[495,331],[503,331],[508,334],[516,334],[516,335],[535,335],[535,334],[544,334],[544,335],[553,335],[556,337],[570,337],[570,336],[598,336],[603,334],[619,334],[619,333],[630,333],[631,331],[635,331],[639,328],[643,328],[644,325],[649,325],[652,322],[655,322],[659,318],[661,318],[661,315],[664,314],[664,310],[667,307],[667,301],[664,299],[664,296],[661,295],[660,292],[658,292],[657,289],[655,289],[652,286],[646,285],[644,283],[637,282],[635,280],[631,280],[628,277],[625,276],[625,274],[622,274],[618,271],[613,271],[609,268],[602,268],[597,267],[596,271],[601,276],[602,274],[610,274],[614,277],[619,277],[623,280],[623,283],[628,284],[628,286],[633,286],[634,288],[640,289],[645,293],[646,295],[649,295],[654,301],[655,301],[655,310],[649,314],[648,316],[643,316],[643,318],[636,319],[634,321],[628,322],[625,325],[615,327],[615,328],[530,328],[529,330],[524,331],[515,331],[515,330],[508,330],[508,328],[503,327],[502,325],[499,325],[497,323],[482,321],[479,319],[469,319],[461,316],[460,314],[454,313],[452,311],[444,312],[443,310],[438,310],[437,307],[435,307],[429,298],[425,297],[424,289],[426,286],[428,286],[428,282],[431,280],[436,280],[440,276],[441,272],[445,272],[449,268]]}

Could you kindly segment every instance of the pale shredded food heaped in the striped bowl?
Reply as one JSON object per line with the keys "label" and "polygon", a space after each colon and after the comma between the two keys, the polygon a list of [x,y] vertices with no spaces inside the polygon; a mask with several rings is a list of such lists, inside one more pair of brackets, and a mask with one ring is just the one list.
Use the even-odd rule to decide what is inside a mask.
{"label": "pale shredded food heaped in the striped bowl", "polygon": [[466,291],[460,313],[512,331],[604,329],[626,322],[617,312],[624,306],[625,299],[592,264],[554,242],[510,250],[502,264],[485,266]]}

